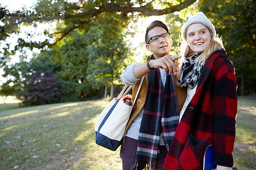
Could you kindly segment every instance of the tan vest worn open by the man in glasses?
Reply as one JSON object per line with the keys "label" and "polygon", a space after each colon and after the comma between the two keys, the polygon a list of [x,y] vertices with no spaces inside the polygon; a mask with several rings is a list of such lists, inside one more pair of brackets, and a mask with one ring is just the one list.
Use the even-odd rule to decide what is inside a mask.
{"label": "tan vest worn open by the man in glasses", "polygon": [[[147,61],[148,61],[148,59],[151,59],[152,56],[153,55],[148,56]],[[175,60],[175,65],[177,65],[177,64],[178,64],[178,62]],[[144,81],[142,83],[142,86],[140,88],[140,92],[138,94],[135,105],[134,105],[134,98],[135,98],[135,95],[138,91],[141,80],[139,80],[132,88],[131,102],[134,105],[134,108],[131,111],[131,116],[130,116],[130,119],[128,120],[127,126],[125,128],[125,132],[128,130],[128,128],[131,125],[131,122],[136,118],[136,116],[140,113],[143,106],[145,105],[147,92],[148,92],[148,82],[149,82],[148,77],[149,77],[150,73],[151,72],[149,72],[148,74],[145,75],[145,79],[144,79]],[[177,94],[178,109],[179,109],[179,113],[180,113],[180,111],[183,107],[183,104],[186,100],[186,88],[180,88],[180,87],[177,86],[177,75],[174,75],[174,82],[175,82],[175,88],[176,88],[176,94]]]}

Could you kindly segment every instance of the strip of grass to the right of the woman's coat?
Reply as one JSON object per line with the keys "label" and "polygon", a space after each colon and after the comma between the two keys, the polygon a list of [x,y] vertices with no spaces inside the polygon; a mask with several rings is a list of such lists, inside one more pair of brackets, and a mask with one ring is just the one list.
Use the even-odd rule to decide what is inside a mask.
{"label": "strip of grass to the right of the woman's coat", "polygon": [[239,170],[256,169],[256,100],[239,99],[236,120],[234,165]]}

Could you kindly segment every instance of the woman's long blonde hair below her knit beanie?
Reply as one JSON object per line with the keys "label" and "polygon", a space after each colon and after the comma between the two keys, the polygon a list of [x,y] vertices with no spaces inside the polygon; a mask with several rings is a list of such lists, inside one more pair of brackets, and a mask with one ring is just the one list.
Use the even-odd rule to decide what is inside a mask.
{"label": "woman's long blonde hair below her knit beanie", "polygon": [[[218,35],[214,36],[214,34],[212,33],[212,31],[209,28],[208,28],[208,30],[210,32],[212,40],[209,43],[209,45],[204,49],[202,54],[195,60],[196,66],[199,66],[202,62],[205,62],[214,51],[221,49],[221,48],[224,49],[224,45],[222,43],[221,37],[218,37]],[[180,55],[182,57],[180,59],[179,72],[177,73],[178,78],[180,78],[180,75],[182,72],[181,65],[184,62],[184,58],[190,57],[194,54],[195,54],[195,52],[192,51],[191,48],[189,47],[189,44],[188,44],[188,42],[186,40],[186,36],[185,36],[185,40],[183,40],[180,45]]]}

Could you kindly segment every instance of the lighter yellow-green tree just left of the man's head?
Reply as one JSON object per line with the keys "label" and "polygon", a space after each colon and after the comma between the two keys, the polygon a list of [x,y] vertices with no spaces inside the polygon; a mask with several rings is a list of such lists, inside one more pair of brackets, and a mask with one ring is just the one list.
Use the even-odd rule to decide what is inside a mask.
{"label": "lighter yellow-green tree just left of the man's head", "polygon": [[122,18],[115,15],[104,18],[104,23],[96,22],[85,34],[89,39],[87,78],[94,86],[111,85],[110,96],[113,98],[113,85],[121,84],[119,75],[131,53],[123,40],[125,25]]}

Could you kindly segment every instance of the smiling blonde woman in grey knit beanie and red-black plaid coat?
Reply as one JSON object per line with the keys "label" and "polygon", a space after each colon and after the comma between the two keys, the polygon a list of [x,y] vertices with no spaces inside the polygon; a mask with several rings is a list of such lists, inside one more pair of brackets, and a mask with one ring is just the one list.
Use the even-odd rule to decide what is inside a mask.
{"label": "smiling blonde woman in grey knit beanie and red-black plaid coat", "polygon": [[212,144],[217,170],[232,170],[237,113],[236,76],[222,41],[202,12],[181,28],[182,63],[177,85],[187,87],[179,125],[164,168],[202,170]]}

